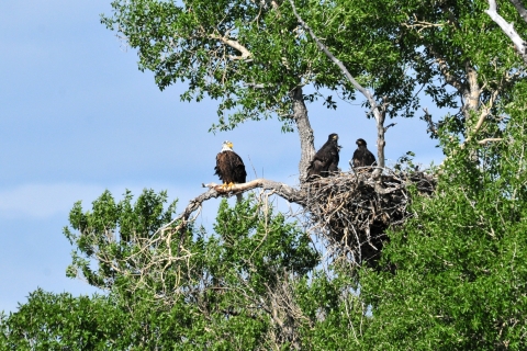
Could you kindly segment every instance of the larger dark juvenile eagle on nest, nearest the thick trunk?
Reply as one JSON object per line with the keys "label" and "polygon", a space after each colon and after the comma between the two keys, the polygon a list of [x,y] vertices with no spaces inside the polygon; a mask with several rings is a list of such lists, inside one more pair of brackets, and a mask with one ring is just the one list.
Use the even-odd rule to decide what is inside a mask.
{"label": "larger dark juvenile eagle on nest, nearest the thick trunk", "polygon": [[315,154],[310,167],[307,167],[307,180],[312,180],[315,176],[328,177],[333,172],[338,172],[340,146],[337,141],[338,135],[329,134],[326,144]]}

